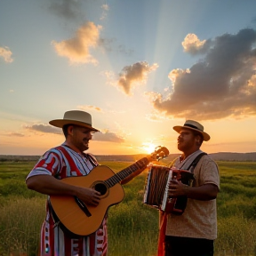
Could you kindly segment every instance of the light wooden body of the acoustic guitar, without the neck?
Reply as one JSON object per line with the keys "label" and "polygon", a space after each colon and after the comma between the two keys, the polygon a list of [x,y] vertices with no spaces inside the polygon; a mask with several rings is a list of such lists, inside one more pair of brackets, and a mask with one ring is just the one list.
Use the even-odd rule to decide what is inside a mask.
{"label": "light wooden body of the acoustic guitar, without the neck", "polygon": [[76,204],[74,196],[51,196],[52,208],[59,218],[60,222],[76,235],[87,236],[100,228],[100,224],[108,210],[108,207],[119,204],[124,199],[124,188],[120,183],[116,183],[111,188],[107,188],[104,180],[115,174],[110,168],[104,165],[95,167],[92,172],[86,176],[68,177],[62,179],[62,182],[70,185],[94,188],[100,192],[100,204],[96,207],[86,205],[88,211],[92,214],[87,216]]}

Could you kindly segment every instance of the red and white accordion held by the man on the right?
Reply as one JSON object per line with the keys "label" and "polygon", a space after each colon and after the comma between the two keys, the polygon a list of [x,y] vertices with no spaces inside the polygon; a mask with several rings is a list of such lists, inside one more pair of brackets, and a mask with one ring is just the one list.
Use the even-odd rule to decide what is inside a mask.
{"label": "red and white accordion held by the man on the right", "polygon": [[195,177],[193,173],[186,170],[152,164],[148,170],[143,203],[166,213],[181,215],[186,209],[188,197],[169,197],[168,189],[171,180],[180,180],[192,186]]}

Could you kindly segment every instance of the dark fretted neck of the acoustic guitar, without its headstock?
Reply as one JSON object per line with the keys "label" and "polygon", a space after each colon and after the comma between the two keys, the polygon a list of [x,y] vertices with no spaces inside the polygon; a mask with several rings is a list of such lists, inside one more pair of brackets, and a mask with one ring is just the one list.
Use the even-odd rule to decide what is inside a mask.
{"label": "dark fretted neck of the acoustic guitar, without its headstock", "polygon": [[116,185],[116,183],[120,182],[121,180],[124,180],[126,177],[131,175],[133,172],[136,172],[142,168],[147,167],[147,164],[149,163],[148,157],[144,157],[137,161],[136,163],[130,165],[129,167],[125,168],[121,172],[117,172],[114,176],[110,177],[108,180],[105,180],[105,184],[108,186],[108,188],[111,188]]}

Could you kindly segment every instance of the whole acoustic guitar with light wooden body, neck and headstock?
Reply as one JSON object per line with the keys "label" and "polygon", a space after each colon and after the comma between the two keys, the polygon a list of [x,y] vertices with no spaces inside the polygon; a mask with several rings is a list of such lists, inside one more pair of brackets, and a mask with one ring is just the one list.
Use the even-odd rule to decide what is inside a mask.
{"label": "whole acoustic guitar with light wooden body, neck and headstock", "polygon": [[113,172],[108,166],[98,165],[86,176],[68,177],[60,181],[83,188],[94,188],[100,192],[100,203],[97,206],[84,204],[76,196],[50,196],[53,215],[69,232],[78,236],[88,236],[100,228],[108,207],[119,204],[124,199],[124,188],[121,180],[148,163],[169,155],[169,150],[157,147],[155,152],[121,172]]}

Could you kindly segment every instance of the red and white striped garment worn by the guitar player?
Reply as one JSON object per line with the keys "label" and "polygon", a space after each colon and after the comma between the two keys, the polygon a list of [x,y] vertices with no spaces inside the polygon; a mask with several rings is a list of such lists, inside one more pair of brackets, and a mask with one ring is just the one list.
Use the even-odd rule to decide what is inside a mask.
{"label": "red and white striped garment worn by the guitar player", "polygon": [[[28,177],[52,175],[56,179],[87,175],[99,165],[91,154],[83,156],[62,144],[44,153]],[[41,228],[40,256],[107,256],[107,216],[100,228],[90,236],[72,237],[54,223],[49,200],[46,202],[46,218]]]}

